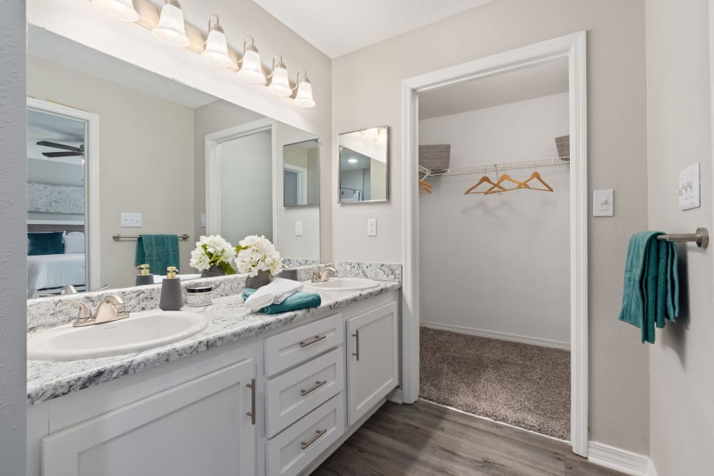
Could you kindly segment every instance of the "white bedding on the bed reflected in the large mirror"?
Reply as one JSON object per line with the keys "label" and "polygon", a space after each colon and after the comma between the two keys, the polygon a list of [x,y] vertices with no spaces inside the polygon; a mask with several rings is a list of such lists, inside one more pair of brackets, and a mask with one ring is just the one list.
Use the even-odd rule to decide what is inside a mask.
{"label": "white bedding on the bed reflected in the large mirror", "polygon": [[27,297],[37,290],[84,285],[84,253],[31,255],[27,257]]}

